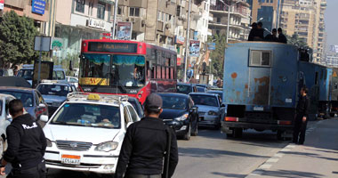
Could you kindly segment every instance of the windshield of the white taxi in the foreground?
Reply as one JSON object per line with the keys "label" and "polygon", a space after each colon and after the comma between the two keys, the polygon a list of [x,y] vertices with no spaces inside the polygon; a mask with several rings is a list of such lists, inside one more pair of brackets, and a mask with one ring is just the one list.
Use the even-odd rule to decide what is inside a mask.
{"label": "windshield of the white taxi in the foreground", "polygon": [[107,105],[66,103],[52,118],[51,124],[120,128],[120,110]]}

